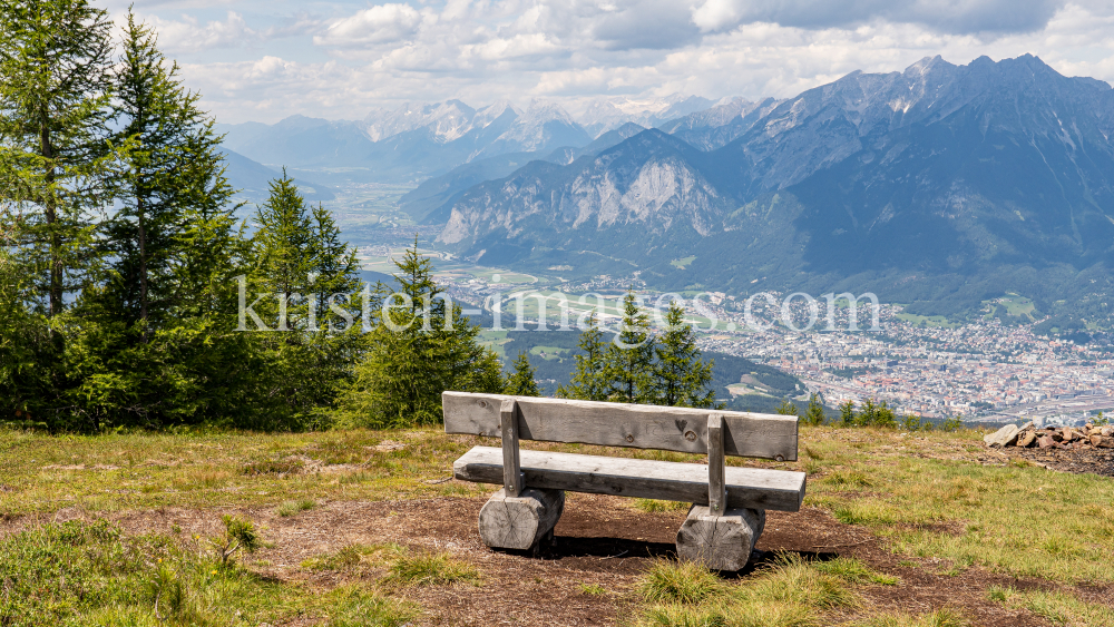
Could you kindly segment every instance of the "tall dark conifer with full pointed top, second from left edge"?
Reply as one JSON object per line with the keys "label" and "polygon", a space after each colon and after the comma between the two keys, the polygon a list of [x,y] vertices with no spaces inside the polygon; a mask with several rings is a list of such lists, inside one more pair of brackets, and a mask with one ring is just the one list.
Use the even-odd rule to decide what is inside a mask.
{"label": "tall dark conifer with full pointed top, second from left edge", "polygon": [[177,281],[183,259],[194,256],[185,249],[189,232],[223,217],[205,213],[225,206],[232,188],[223,175],[221,137],[197,107],[201,96],[182,86],[177,63],[166,60],[155,33],[130,10],[123,49],[114,109],[116,143],[127,150],[111,178],[120,208],[108,229],[114,308],[128,324],[141,323],[146,341],[177,301],[190,297]]}

